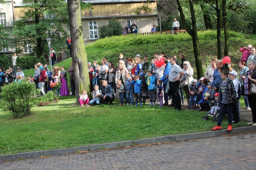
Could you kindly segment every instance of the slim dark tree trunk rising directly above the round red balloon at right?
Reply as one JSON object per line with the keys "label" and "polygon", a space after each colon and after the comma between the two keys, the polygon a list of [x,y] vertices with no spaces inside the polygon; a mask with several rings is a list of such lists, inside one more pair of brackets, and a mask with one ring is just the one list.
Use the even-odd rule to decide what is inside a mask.
{"label": "slim dark tree trunk rising directly above the round red balloon at right", "polygon": [[223,17],[224,37],[225,37],[224,56],[228,56],[229,40],[228,40],[226,0],[222,0],[222,17]]}

